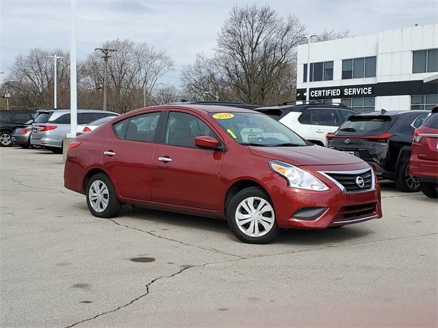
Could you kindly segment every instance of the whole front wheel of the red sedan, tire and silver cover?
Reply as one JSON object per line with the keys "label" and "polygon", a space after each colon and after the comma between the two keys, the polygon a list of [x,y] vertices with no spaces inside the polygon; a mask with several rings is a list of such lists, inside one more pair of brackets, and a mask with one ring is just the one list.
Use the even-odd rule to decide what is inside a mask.
{"label": "whole front wheel of the red sedan, tire and silver cover", "polygon": [[266,244],[280,232],[272,200],[259,187],[239,191],[226,211],[231,232],[244,243]]}

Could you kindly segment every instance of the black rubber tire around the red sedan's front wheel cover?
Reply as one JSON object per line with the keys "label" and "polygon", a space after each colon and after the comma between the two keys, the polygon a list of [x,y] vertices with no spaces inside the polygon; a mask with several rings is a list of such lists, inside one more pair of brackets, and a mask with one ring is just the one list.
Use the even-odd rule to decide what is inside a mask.
{"label": "black rubber tire around the red sedan's front wheel cover", "polygon": [[[239,226],[237,226],[237,222],[236,222],[236,211],[237,211],[237,207],[239,206],[240,208],[242,208],[240,205],[242,202],[244,202],[245,200],[247,200],[249,197],[257,197],[258,200],[255,200],[255,203],[253,202],[253,207],[258,205],[261,205],[261,201],[264,201],[264,205],[261,206],[261,208],[263,208],[264,206],[266,206],[266,203],[269,204],[270,208],[272,210],[269,210],[269,212],[271,213],[270,217],[266,217],[263,215],[263,213],[259,216],[256,217],[266,217],[266,220],[272,220],[272,223],[269,223],[267,221],[265,221],[265,219],[261,220],[261,219],[251,219],[254,220],[255,223],[252,223],[251,221],[249,221],[248,223],[245,223],[242,225],[242,229],[249,230],[249,226],[253,225],[254,227],[254,232],[255,232],[255,224],[257,224],[257,232],[263,230],[263,232],[266,232],[265,226],[268,225],[270,226],[270,230],[268,230],[266,233],[263,234],[262,236],[249,236],[248,234],[245,234],[242,230],[240,230]],[[266,213],[264,213],[266,214]],[[272,204],[272,200],[270,199],[269,195],[266,193],[266,191],[264,191],[263,189],[259,188],[259,187],[250,187],[250,188],[246,188],[242,191],[239,191],[232,199],[231,202],[229,202],[227,208],[226,208],[226,215],[227,215],[227,220],[228,220],[228,226],[231,229],[231,232],[233,232],[233,234],[239,238],[241,241],[243,241],[244,243],[250,243],[250,244],[266,244],[269,243],[270,241],[272,241],[280,232],[279,227],[276,225],[276,220],[275,220],[275,211],[274,211],[274,206]],[[250,213],[247,213],[246,215],[251,216]],[[249,218],[248,218],[249,219]],[[263,221],[263,223],[259,223],[259,221]]]}

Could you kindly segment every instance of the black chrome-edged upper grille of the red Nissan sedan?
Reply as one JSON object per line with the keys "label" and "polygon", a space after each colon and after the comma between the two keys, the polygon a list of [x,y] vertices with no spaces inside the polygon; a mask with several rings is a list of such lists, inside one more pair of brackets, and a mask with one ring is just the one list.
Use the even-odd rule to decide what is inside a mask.
{"label": "black chrome-edged upper grille of the red Nissan sedan", "polygon": [[[374,188],[372,169],[346,172],[321,172],[335,182],[346,193],[368,191]],[[363,186],[361,182],[363,180]]]}

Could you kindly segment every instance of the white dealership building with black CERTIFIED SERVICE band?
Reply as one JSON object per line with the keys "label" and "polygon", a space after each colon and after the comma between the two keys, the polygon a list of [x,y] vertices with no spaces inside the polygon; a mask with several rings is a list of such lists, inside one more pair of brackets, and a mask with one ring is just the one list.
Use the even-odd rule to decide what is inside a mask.
{"label": "white dealership building with black CERTIFIED SERVICE band", "polygon": [[[297,100],[359,112],[438,104],[438,23],[298,46]],[[307,63],[310,63],[307,85]]]}

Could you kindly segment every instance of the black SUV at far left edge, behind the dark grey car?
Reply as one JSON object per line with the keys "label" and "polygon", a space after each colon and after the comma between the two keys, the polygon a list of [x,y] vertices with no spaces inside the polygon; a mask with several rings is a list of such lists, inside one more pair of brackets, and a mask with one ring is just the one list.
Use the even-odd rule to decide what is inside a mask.
{"label": "black SUV at far left edge, behind the dark grey car", "polygon": [[12,132],[21,124],[34,118],[32,110],[7,110],[0,111],[0,146],[12,146]]}

